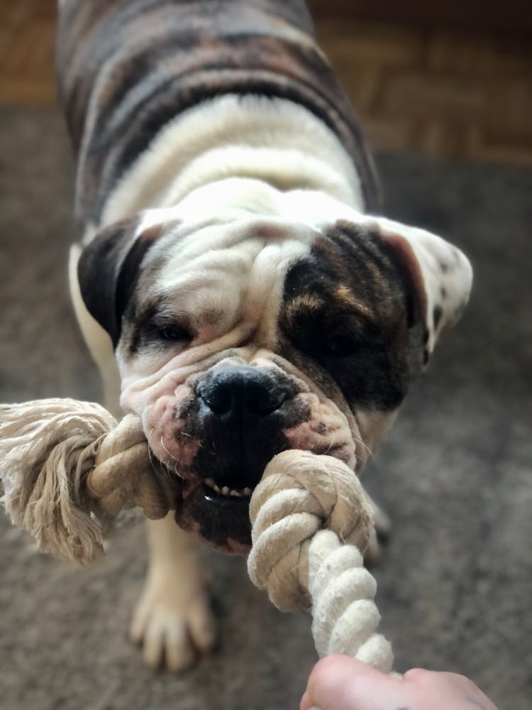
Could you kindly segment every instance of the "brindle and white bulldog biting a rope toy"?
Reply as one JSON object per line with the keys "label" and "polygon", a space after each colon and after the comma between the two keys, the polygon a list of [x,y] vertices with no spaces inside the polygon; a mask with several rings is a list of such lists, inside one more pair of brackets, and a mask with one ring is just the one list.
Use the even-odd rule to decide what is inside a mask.
{"label": "brindle and white bulldog biting a rope toy", "polygon": [[142,417],[176,482],[131,636],[182,670],[216,640],[197,540],[249,550],[250,495],[284,449],[359,473],[472,272],[378,216],[300,0],[60,0],[57,76],[74,309],[106,405]]}

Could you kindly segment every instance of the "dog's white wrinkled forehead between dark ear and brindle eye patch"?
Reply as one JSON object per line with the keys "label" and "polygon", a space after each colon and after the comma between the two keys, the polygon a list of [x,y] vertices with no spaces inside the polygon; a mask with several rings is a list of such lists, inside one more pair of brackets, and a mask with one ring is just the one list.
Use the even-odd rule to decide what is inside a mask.
{"label": "dog's white wrinkled forehead between dark ear and brindle eye patch", "polygon": [[285,274],[309,251],[312,236],[306,226],[257,219],[173,229],[143,261],[123,313],[119,354],[160,356],[231,332],[231,346],[244,344],[243,333],[272,346]]}

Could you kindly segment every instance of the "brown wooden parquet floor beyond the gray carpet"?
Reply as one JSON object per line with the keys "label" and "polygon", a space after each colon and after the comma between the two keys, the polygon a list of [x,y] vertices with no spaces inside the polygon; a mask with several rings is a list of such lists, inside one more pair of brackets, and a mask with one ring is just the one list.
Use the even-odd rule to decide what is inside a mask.
{"label": "brown wooden parquet floor beyond the gray carpet", "polygon": [[[55,0],[0,0],[0,103],[55,106]],[[321,16],[377,149],[532,165],[532,40]]]}

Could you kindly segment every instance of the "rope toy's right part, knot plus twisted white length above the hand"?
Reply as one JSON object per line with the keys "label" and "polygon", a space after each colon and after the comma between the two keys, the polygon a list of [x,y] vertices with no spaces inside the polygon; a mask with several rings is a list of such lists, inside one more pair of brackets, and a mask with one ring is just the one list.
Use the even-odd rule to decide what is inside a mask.
{"label": "rope toy's right part, knot plus twisted white length above the hand", "polygon": [[345,653],[389,672],[392,647],[375,633],[377,584],[362,559],[372,510],[355,473],[333,457],[282,452],[255,488],[250,518],[253,583],[281,611],[311,607],[321,657]]}

